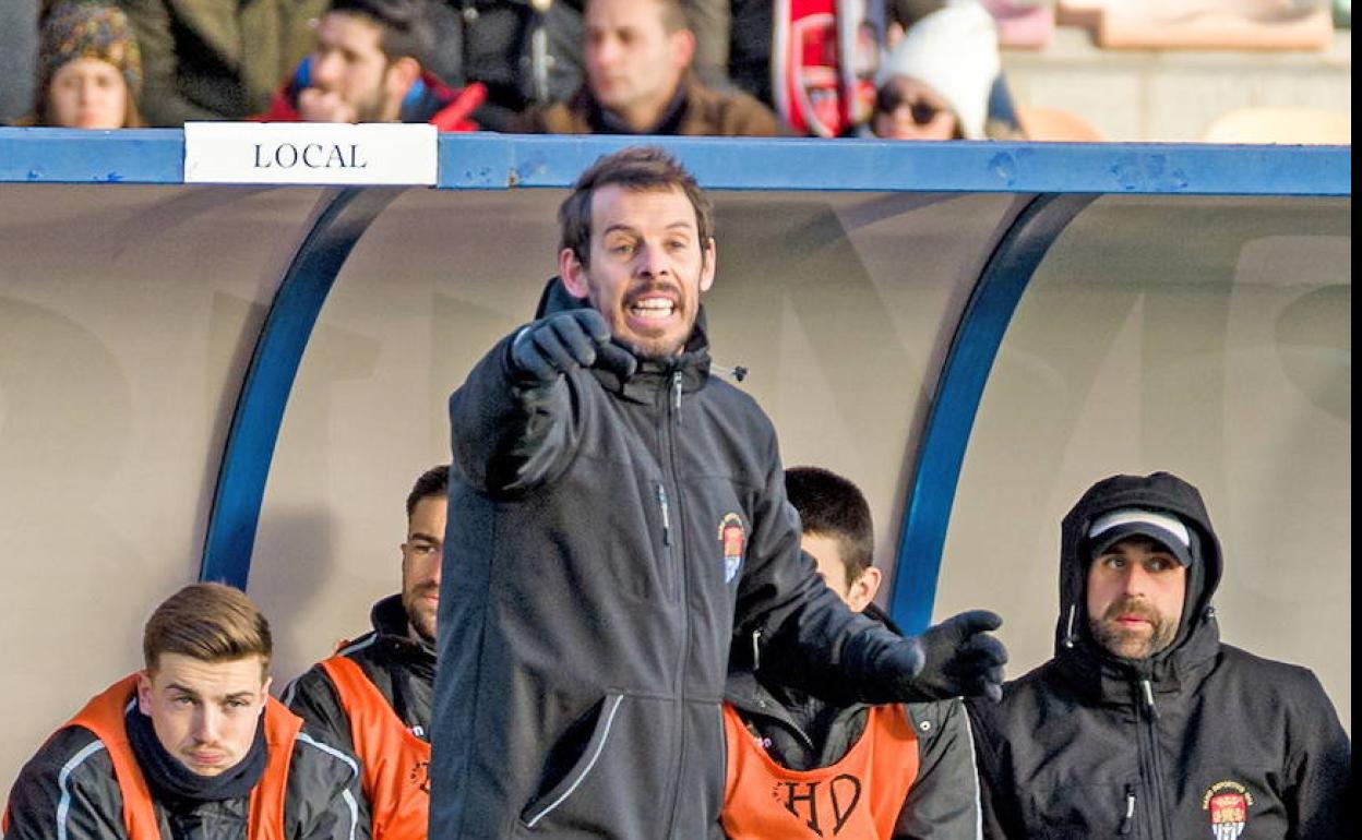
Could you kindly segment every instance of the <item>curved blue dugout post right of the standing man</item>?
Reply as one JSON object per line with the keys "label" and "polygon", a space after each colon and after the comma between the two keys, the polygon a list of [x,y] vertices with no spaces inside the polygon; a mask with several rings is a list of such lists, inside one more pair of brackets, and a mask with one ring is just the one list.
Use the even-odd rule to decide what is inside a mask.
{"label": "curved blue dugout post right of the standing man", "polygon": [[1050,245],[1094,199],[1032,199],[993,249],[966,304],[932,398],[899,535],[889,614],[910,633],[932,619],[964,451],[1012,313]]}

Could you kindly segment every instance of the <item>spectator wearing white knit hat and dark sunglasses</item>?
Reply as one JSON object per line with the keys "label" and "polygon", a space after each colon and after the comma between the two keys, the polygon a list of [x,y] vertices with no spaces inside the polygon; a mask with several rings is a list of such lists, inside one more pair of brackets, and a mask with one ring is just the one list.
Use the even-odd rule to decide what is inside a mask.
{"label": "spectator wearing white knit hat and dark sunglasses", "polygon": [[880,67],[870,129],[895,140],[986,139],[998,131],[987,114],[1000,69],[993,16],[974,1],[947,4],[914,23]]}

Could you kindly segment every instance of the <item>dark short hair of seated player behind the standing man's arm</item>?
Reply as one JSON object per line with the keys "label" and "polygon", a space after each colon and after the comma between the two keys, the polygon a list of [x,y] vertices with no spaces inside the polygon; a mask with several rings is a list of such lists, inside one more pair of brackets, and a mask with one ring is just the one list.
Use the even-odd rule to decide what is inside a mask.
{"label": "dark short hair of seated player behind the standing man's arm", "polygon": [[859,579],[874,555],[870,504],[861,489],[821,467],[791,467],[785,471],[785,491],[804,532],[838,540],[847,583]]}

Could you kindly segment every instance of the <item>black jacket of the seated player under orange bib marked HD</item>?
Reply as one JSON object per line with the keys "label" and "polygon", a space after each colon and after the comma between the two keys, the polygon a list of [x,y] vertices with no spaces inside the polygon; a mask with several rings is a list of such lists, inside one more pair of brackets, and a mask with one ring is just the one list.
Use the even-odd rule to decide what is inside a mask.
{"label": "black jacket of the seated player under orange bib marked HD", "polygon": [[[898,632],[878,607],[872,604],[865,614]],[[834,765],[865,732],[869,704],[828,704],[798,689],[767,683],[759,674],[746,663],[730,667],[725,700],[780,766],[810,771]],[[979,775],[964,704],[957,698],[906,702],[904,709],[918,735],[918,775],[903,799],[893,840],[978,840]]]}

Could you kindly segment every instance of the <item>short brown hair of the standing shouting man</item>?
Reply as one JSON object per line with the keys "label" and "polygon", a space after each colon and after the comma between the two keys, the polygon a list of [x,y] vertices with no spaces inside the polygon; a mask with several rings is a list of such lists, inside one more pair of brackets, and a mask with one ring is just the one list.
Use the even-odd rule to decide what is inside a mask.
{"label": "short brown hair of the standing shouting man", "polygon": [[622,187],[636,192],[681,189],[695,208],[700,252],[714,238],[714,207],[695,176],[685,170],[666,150],[656,146],[631,146],[592,163],[572,188],[572,195],[558,206],[560,249],[571,249],[577,261],[588,264],[591,253],[591,199],[602,187]]}

